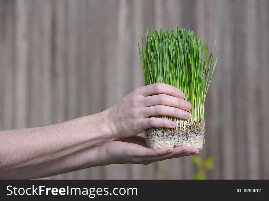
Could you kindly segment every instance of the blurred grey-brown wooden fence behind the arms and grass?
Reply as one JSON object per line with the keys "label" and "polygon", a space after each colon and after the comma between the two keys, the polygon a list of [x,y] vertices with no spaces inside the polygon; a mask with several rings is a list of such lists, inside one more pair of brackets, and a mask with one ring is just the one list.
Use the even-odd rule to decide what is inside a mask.
{"label": "blurred grey-brown wooden fence behind the arms and grass", "polygon": [[[215,39],[219,50],[199,154],[214,159],[207,178],[269,179],[268,13],[267,0],[0,0],[0,130],[109,108],[144,85],[138,40],[147,28],[190,24],[209,50]],[[193,179],[194,161],[109,165],[50,179]]]}

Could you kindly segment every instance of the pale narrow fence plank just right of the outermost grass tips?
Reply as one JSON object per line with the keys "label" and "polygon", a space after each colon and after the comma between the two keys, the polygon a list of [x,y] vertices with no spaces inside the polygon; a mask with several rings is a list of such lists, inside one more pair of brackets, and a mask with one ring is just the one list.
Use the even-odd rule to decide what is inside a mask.
{"label": "pale narrow fence plank just right of the outermost grass tips", "polygon": [[[232,49],[232,6],[230,2],[222,1],[221,7],[221,16],[222,16],[222,41],[220,43],[221,46],[221,57],[223,58],[221,63],[218,61],[218,70],[222,68],[223,72],[223,133],[222,133],[222,149],[223,151],[223,179],[233,179],[234,178],[234,132],[232,129],[232,99],[231,96],[231,75],[232,72],[232,58],[233,49]],[[219,41],[218,41],[219,42]]]}

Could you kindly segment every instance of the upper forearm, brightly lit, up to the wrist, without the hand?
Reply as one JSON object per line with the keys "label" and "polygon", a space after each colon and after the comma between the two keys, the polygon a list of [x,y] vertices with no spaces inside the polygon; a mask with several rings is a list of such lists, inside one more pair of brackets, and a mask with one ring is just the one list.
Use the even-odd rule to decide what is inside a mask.
{"label": "upper forearm, brightly lit, up to the wrist, without the hand", "polygon": [[106,112],[57,125],[0,131],[0,172],[66,156],[111,138]]}

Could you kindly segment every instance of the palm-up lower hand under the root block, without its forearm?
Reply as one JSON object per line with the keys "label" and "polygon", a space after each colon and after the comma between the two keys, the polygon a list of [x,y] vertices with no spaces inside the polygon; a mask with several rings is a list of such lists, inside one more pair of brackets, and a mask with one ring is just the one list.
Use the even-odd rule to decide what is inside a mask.
{"label": "palm-up lower hand under the root block, without its forearm", "polygon": [[197,148],[188,146],[164,147],[153,151],[147,148],[145,138],[132,136],[109,141],[99,146],[98,158],[103,158],[105,165],[120,163],[150,164],[168,158],[179,158],[198,154]]}

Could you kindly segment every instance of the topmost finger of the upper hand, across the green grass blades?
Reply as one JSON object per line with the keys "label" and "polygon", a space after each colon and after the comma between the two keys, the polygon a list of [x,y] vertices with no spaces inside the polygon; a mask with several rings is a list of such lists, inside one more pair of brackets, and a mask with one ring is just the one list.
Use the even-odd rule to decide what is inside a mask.
{"label": "topmost finger of the upper hand, across the green grass blades", "polygon": [[179,90],[177,87],[174,87],[169,84],[164,83],[154,83],[144,87],[137,88],[137,93],[142,96],[151,96],[157,94],[167,94],[178,98],[185,98],[185,94]]}

